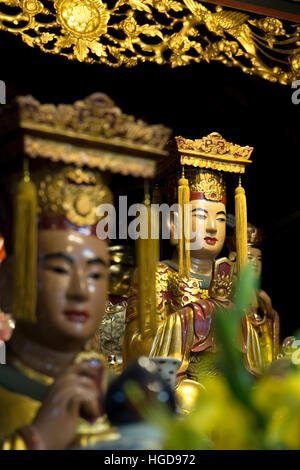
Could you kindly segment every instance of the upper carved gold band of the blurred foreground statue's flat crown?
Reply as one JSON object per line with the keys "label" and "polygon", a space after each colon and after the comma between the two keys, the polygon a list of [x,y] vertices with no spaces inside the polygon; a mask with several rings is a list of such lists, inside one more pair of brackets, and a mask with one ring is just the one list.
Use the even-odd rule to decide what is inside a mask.
{"label": "upper carved gold band of the blurred foreground statue's flat crown", "polygon": [[[122,113],[103,93],[94,93],[72,105],[41,104],[32,96],[19,96],[11,105],[0,107],[0,134],[8,132],[9,110],[18,109],[24,129],[49,135],[80,138],[95,144],[122,146],[164,155],[171,130],[161,124],[149,125]],[[82,117],[84,116],[84,119]]]}

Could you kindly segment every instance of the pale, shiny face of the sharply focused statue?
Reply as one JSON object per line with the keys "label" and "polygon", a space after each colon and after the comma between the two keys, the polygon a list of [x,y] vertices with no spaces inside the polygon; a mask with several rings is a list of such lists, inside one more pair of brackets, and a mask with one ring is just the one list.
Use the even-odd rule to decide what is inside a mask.
{"label": "pale, shiny face of the sharply focused statue", "polygon": [[191,201],[191,256],[214,260],[223,248],[226,236],[226,207],[222,202],[197,199]]}

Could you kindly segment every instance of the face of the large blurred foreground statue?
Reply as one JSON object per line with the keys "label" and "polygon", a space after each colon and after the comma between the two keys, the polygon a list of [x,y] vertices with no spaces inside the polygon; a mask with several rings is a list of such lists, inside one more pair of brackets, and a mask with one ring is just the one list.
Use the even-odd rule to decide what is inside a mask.
{"label": "face of the large blurred foreground statue", "polygon": [[104,241],[76,231],[41,230],[37,323],[43,338],[86,341],[101,323],[108,290]]}

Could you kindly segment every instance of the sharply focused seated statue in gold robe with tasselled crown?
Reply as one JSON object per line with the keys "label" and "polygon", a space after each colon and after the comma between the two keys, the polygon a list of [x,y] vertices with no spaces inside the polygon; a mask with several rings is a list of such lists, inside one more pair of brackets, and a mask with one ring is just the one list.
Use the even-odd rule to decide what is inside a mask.
{"label": "sharply focused seated statue in gold robe with tasselled crown", "polygon": [[[154,309],[149,305],[149,294],[143,304],[141,276],[136,274],[127,309],[124,361],[141,354],[180,359],[177,390],[181,390],[179,395],[183,399],[188,389],[195,388],[195,382],[201,384],[203,377],[218,372],[214,319],[217,309],[230,305],[233,276],[233,263],[227,258],[217,259],[226,235],[224,172],[243,173],[253,149],[230,144],[217,133],[196,141],[182,137],[176,140],[186,170],[179,179],[178,191],[174,178],[170,186],[173,193],[178,193],[179,208],[190,202],[190,209],[181,211],[181,226],[189,225],[184,220],[191,217],[195,239],[191,240],[189,250],[186,243],[189,238],[184,239],[184,231],[179,231],[181,236],[176,237],[175,213],[170,231],[176,250],[171,260],[156,266]],[[236,212],[241,267],[247,263],[246,203],[241,186],[236,189]],[[184,400],[187,401],[187,396]]]}

